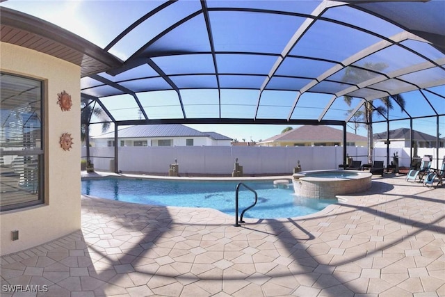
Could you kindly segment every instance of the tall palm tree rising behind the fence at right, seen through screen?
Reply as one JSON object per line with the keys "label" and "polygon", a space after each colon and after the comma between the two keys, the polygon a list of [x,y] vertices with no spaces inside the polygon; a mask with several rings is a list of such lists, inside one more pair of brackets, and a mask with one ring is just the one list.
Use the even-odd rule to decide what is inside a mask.
{"label": "tall palm tree rising behind the fence at right, seen through screen", "polygon": [[[382,70],[385,70],[385,68],[387,67],[388,65],[385,63],[364,63],[363,68],[348,67],[343,76],[343,81],[356,84],[359,82],[368,81],[369,79],[373,79],[377,75],[376,72],[382,72]],[[343,96],[343,98],[346,104],[350,106],[353,97],[346,95]],[[383,105],[376,107],[373,105],[373,102],[379,99],[374,99],[373,102],[366,101],[364,103],[364,110],[361,111],[364,114],[365,125],[366,129],[368,130],[369,163],[373,162],[373,113],[377,111],[379,115],[385,115],[390,109],[394,109],[391,99],[394,100],[401,107],[402,111],[403,109],[405,109],[405,99],[402,97],[402,95],[398,94],[380,98],[380,101],[383,103]]]}

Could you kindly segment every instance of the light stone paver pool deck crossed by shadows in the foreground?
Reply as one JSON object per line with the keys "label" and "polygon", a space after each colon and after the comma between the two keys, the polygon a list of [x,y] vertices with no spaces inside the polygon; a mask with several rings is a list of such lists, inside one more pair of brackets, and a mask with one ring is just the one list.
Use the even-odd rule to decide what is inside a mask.
{"label": "light stone paver pool deck crossed by shadows in the foreground", "polygon": [[212,209],[82,196],[81,230],[1,257],[1,296],[445,296],[445,186],[374,176],[343,198],[234,227]]}

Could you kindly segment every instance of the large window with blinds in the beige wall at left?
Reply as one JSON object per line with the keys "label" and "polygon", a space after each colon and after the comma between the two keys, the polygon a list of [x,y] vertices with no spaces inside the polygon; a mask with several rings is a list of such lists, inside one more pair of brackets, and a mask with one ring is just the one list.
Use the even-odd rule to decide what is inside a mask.
{"label": "large window with blinds in the beige wall at left", "polygon": [[0,210],[42,204],[43,83],[1,72]]}

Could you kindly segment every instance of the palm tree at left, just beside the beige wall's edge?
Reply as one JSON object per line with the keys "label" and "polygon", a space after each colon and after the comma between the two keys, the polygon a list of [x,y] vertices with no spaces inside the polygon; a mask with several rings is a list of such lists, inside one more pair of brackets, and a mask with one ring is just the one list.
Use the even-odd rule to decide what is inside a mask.
{"label": "palm tree at left, just beside the beige wall's edge", "polygon": [[110,122],[105,122],[108,119],[105,111],[99,106],[95,106],[89,99],[81,98],[81,141],[86,143],[86,159],[90,161],[90,119],[95,115],[99,120],[102,120],[102,132],[105,133],[110,127]]}

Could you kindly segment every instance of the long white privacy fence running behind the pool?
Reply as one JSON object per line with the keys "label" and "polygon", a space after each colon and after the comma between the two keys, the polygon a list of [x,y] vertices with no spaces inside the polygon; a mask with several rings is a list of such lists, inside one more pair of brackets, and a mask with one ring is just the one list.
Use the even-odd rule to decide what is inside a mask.
{"label": "long white privacy fence running behind the pool", "polygon": [[[368,163],[366,147],[348,147],[348,156]],[[397,152],[399,166],[410,167],[410,149],[389,150],[389,163]],[[419,156],[436,157],[435,148],[418,150]],[[439,166],[445,148],[439,149]],[[86,147],[82,148],[83,158]],[[114,171],[114,147],[90,147],[95,170]],[[235,159],[243,166],[244,175],[291,174],[300,161],[302,170],[337,169],[343,163],[343,147],[118,147],[119,170],[122,172],[147,172],[168,174],[175,159],[179,175],[231,175]],[[374,149],[374,161],[384,161],[387,166],[386,148]],[[436,165],[433,162],[433,167]]]}

